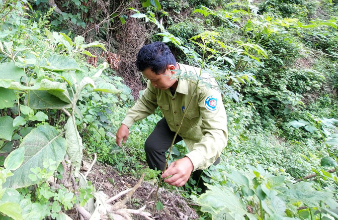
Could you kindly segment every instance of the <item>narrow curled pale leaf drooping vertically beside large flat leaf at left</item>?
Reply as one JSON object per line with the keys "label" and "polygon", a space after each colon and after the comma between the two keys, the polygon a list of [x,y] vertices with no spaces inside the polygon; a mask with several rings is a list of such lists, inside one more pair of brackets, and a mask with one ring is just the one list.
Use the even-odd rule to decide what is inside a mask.
{"label": "narrow curled pale leaf drooping vertically beside large flat leaf at left", "polygon": [[72,165],[75,166],[76,170],[80,170],[81,160],[82,160],[82,150],[84,145],[82,143],[82,138],[79,134],[79,131],[76,126],[75,116],[72,115],[66,123],[66,140],[68,143],[67,154],[69,156]]}

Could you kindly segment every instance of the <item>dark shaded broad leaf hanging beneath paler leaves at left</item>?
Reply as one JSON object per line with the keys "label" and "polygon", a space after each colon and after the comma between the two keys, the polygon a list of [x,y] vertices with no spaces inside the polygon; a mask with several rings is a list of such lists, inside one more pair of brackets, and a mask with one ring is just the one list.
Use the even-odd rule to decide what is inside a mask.
{"label": "dark shaded broad leaf hanging beneath paler leaves at left", "polygon": [[[27,97],[28,95],[25,102],[28,104]],[[29,107],[32,109],[63,109],[71,106],[47,91],[31,91],[29,93]]]}

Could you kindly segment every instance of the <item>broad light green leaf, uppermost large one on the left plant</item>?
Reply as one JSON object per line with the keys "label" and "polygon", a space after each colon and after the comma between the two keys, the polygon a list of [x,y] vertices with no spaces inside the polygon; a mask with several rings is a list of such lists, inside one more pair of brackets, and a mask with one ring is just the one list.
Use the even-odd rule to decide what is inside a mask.
{"label": "broad light green leaf, uppermost large one on the left plant", "polygon": [[40,67],[52,71],[81,70],[74,59],[61,55],[52,55],[47,59],[42,59]]}

